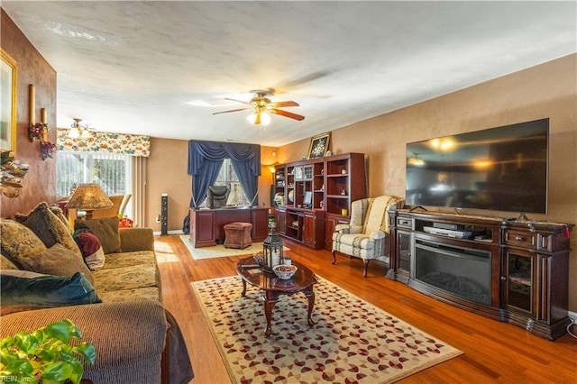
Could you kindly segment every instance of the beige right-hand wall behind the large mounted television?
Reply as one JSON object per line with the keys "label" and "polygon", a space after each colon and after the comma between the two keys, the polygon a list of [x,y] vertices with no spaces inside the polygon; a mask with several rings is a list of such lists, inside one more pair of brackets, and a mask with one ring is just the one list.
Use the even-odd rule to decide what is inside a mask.
{"label": "beige right-hand wall behind the large mounted television", "polygon": [[[577,222],[577,55],[496,78],[452,94],[332,132],[331,150],[363,152],[369,193],[404,197],[407,142],[509,123],[550,118],[548,214],[536,220]],[[279,148],[279,161],[298,160],[309,140]],[[515,216],[478,211],[480,215]],[[570,310],[577,312],[577,228],[572,231]]]}

